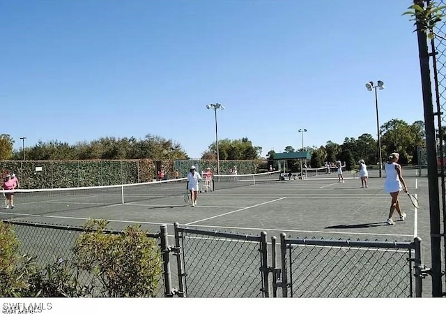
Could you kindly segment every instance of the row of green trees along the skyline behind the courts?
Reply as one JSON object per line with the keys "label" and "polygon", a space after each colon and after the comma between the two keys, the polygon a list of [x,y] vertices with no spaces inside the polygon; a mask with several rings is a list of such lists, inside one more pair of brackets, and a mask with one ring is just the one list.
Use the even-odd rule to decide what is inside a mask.
{"label": "row of green trees along the skyline behind the courts", "polygon": [[[446,132],[443,132],[443,135]],[[417,147],[424,147],[424,122],[415,121],[408,124],[400,119],[392,119],[380,126],[382,156],[394,151],[400,154],[401,163],[417,163]],[[8,134],[0,135],[0,160],[21,160],[23,151],[13,150],[14,140]],[[243,137],[240,140],[219,140],[220,160],[253,160],[261,158],[262,148],[254,146]],[[153,159],[175,160],[188,159],[187,153],[180,144],[155,135],[146,135],[143,140],[134,137],[102,137],[92,142],[79,142],[70,145],[57,140],[38,142],[33,147],[25,147],[26,160],[92,160],[92,159]],[[301,151],[302,149],[298,149]],[[306,147],[310,151],[312,167],[322,167],[325,161],[343,160],[348,164],[356,164],[364,159],[367,164],[378,163],[378,143],[370,134],[363,134],[357,139],[346,137],[344,143],[337,144],[328,141],[325,146]],[[201,158],[216,159],[217,147],[215,142],[209,145]],[[295,149],[285,147],[284,151]],[[274,158],[275,151],[268,151],[268,158]]]}

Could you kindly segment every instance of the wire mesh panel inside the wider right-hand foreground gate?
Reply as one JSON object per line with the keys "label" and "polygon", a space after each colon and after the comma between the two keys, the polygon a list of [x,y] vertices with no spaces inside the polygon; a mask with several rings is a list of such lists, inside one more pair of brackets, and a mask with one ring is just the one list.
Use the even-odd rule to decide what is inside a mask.
{"label": "wire mesh panel inside the wider right-hand foreground gate", "polygon": [[412,254],[403,248],[291,245],[291,297],[410,297]]}

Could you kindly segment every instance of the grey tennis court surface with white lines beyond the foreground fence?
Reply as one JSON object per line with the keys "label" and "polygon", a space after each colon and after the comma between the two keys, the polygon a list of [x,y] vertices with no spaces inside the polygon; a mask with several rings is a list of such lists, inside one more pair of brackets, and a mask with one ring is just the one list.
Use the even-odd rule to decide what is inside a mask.
{"label": "grey tennis court surface with white lines beyond the foreground fence", "polygon": [[[350,176],[350,177],[349,177]],[[427,179],[406,177],[411,193],[417,194],[420,209],[401,195],[405,221],[386,225],[390,196],[384,193],[384,178],[369,179],[369,188],[360,188],[360,179],[346,174],[339,183],[336,174],[309,179],[279,181],[278,174],[262,179],[238,176],[215,181],[215,190],[199,193],[198,204],[185,203],[184,179],[108,188],[53,189],[16,193],[15,208],[1,209],[0,218],[80,226],[89,218],[109,220],[117,230],[140,224],[158,232],[167,224],[236,234],[268,234],[288,238],[412,241],[422,238],[423,262],[429,265],[429,211]],[[68,206],[67,206],[68,205]],[[43,239],[45,234],[43,234]],[[42,239],[42,241],[43,241]],[[39,241],[36,239],[36,241]],[[426,287],[428,285],[426,279]]]}

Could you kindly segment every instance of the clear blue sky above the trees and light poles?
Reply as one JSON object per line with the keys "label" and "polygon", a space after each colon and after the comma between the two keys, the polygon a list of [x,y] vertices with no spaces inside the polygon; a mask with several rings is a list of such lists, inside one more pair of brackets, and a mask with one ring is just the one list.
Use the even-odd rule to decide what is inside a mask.
{"label": "clear blue sky above the trees and light poles", "polygon": [[15,149],[160,135],[284,151],[424,120],[410,0],[0,0],[0,105]]}

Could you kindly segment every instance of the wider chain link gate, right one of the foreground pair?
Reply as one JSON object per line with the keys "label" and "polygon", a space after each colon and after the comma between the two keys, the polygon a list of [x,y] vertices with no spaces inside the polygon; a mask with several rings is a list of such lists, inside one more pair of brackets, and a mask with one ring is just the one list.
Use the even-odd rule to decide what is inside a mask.
{"label": "wider chain link gate, right one of the foreground pair", "polygon": [[420,241],[286,239],[281,234],[282,282],[273,282],[273,293],[282,288],[282,297],[421,297]]}

